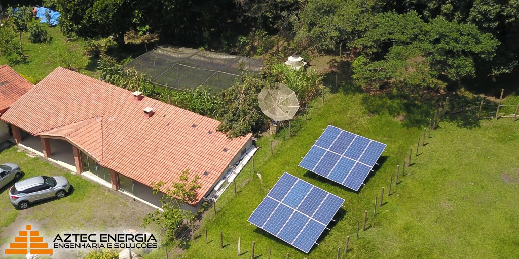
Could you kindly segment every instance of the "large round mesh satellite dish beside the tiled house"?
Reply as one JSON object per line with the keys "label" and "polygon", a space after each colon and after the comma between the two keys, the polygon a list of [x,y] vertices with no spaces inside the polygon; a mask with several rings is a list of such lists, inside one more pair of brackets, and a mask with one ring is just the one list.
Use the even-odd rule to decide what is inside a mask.
{"label": "large round mesh satellite dish beside the tiled house", "polygon": [[258,95],[261,111],[274,121],[294,118],[299,109],[299,101],[294,90],[282,83],[271,84]]}

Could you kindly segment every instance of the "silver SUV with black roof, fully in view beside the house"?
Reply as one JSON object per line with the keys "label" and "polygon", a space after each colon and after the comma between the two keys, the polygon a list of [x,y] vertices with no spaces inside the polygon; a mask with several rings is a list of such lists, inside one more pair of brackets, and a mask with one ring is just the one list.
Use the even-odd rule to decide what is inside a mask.
{"label": "silver SUV with black roof, fully in view beside the house", "polygon": [[35,176],[15,183],[9,189],[9,202],[23,210],[38,200],[63,198],[69,189],[69,180],[63,176]]}

